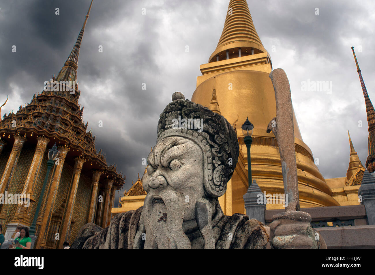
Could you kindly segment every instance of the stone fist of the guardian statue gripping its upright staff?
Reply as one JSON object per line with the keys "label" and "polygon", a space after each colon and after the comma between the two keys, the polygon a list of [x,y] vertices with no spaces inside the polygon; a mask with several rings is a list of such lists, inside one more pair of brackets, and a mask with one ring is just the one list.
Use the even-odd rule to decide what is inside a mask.
{"label": "stone fist of the guardian statue gripping its upright staff", "polygon": [[301,211],[288,211],[272,217],[272,249],[325,249],[323,237],[310,224],[311,216]]}

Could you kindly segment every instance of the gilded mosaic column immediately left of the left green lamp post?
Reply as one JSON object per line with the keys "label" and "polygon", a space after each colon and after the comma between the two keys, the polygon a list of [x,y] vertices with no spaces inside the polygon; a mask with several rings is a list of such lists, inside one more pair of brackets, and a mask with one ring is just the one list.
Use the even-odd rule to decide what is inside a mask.
{"label": "gilded mosaic column immediately left of the left green lamp post", "polygon": [[[38,178],[38,174],[40,171],[40,165],[42,164],[44,152],[46,150],[47,144],[49,139],[46,137],[37,137],[37,144],[34,153],[33,160],[31,161],[30,169],[28,170],[28,174],[26,177],[26,181],[23,187],[22,194],[30,194],[30,203],[34,202],[35,199],[33,198],[33,189],[36,185],[36,181]],[[24,211],[21,211],[21,208],[24,207]],[[29,216],[29,209],[31,207],[25,207],[24,204],[19,204],[17,207],[17,212],[15,213],[12,223],[19,223],[26,226],[30,226],[30,216]]]}

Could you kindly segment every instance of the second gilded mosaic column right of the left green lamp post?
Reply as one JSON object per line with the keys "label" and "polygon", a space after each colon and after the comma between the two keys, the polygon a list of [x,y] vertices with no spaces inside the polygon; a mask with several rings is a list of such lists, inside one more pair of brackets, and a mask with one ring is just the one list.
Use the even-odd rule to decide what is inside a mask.
{"label": "second gilded mosaic column right of the left green lamp post", "polygon": [[67,242],[69,241],[69,235],[70,235],[69,230],[70,230],[71,222],[72,222],[75,198],[77,196],[78,182],[80,181],[82,166],[84,162],[86,161],[85,159],[81,157],[75,157],[74,160],[75,160],[75,163],[74,163],[74,170],[73,170],[73,175],[72,175],[71,191],[70,191],[69,200],[67,202],[67,206],[65,209],[65,214],[64,214],[65,218],[64,218],[62,233],[60,235],[59,248],[63,248],[63,243],[65,241]]}

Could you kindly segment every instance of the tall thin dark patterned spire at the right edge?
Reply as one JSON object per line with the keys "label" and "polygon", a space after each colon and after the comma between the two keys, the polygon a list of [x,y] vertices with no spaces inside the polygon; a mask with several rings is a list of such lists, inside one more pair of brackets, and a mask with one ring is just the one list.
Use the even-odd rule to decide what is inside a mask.
{"label": "tall thin dark patterned spire at the right edge", "polygon": [[359,80],[362,86],[363,97],[365,98],[366,103],[366,113],[367,113],[367,123],[369,125],[369,138],[368,138],[368,147],[369,147],[369,156],[366,160],[366,167],[370,173],[375,171],[375,110],[372,102],[369,98],[369,94],[367,92],[365,81],[363,81],[361,69],[359,68],[356,53],[354,53],[354,47],[351,47],[353,51],[354,60],[356,61],[357,65],[357,72],[359,75]]}

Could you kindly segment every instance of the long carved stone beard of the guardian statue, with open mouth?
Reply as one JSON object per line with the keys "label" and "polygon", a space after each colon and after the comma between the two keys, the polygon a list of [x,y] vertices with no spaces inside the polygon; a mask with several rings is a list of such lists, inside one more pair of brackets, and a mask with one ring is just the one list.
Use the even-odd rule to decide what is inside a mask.
{"label": "long carved stone beard of the guardian statue, with open mouth", "polygon": [[171,188],[150,190],[139,221],[139,230],[142,230],[143,224],[146,233],[144,249],[191,248],[190,240],[183,231],[183,202],[181,194]]}

